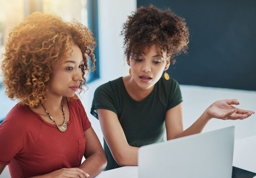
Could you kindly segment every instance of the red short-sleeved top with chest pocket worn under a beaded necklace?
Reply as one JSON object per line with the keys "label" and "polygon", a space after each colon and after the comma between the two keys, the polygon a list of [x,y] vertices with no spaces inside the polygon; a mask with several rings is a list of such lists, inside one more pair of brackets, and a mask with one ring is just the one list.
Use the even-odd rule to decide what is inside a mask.
{"label": "red short-sleeved top with chest pocket worn under a beaded necklace", "polygon": [[11,177],[32,177],[81,165],[91,127],[79,99],[68,103],[67,130],[45,122],[27,106],[16,104],[0,125],[0,164],[9,164]]}

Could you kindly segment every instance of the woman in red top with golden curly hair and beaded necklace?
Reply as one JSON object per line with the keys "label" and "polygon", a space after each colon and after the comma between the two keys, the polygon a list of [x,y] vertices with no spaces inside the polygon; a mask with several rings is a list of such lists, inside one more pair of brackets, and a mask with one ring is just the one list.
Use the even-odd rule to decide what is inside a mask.
{"label": "woman in red top with golden curly hair and beaded necklace", "polygon": [[[94,70],[95,40],[73,20],[35,12],[9,35],[1,65],[6,95],[19,103],[0,125],[0,173],[95,177],[106,157],[80,94]],[[81,164],[82,157],[86,160]]]}

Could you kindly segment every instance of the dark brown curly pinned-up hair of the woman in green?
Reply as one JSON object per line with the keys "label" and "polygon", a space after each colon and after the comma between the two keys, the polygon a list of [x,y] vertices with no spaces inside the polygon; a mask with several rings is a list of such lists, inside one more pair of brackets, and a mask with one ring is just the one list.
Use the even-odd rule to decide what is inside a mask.
{"label": "dark brown curly pinned-up hair of the woman in green", "polygon": [[187,53],[189,32],[184,18],[171,12],[160,10],[153,5],[140,7],[128,16],[123,24],[121,35],[124,35],[125,55],[131,53],[146,54],[156,44],[162,55],[166,51],[175,64],[175,56]]}

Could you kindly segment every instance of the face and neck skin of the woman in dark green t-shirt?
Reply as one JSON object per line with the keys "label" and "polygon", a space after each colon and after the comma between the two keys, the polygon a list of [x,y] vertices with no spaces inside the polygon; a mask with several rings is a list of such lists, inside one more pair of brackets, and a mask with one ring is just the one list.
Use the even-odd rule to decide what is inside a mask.
{"label": "face and neck skin of the woman in dark green t-shirt", "polygon": [[[125,88],[133,99],[141,101],[153,90],[155,83],[162,76],[162,71],[169,68],[170,58],[167,57],[166,52],[161,56],[157,53],[156,45],[152,45],[147,55],[134,54],[127,63],[131,67],[132,75],[123,78]],[[152,79],[143,82],[141,80],[143,75],[149,75]]]}

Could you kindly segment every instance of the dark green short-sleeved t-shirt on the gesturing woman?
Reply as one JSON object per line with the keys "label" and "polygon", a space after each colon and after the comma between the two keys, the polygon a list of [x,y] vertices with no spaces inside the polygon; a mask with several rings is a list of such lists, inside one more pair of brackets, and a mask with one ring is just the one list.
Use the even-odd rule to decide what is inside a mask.
{"label": "dark green short-sleeved t-shirt on the gesturing woman", "polygon": [[[164,141],[166,111],[182,102],[179,84],[174,79],[161,77],[152,92],[142,101],[128,94],[122,77],[99,86],[94,93],[91,114],[98,119],[96,109],[108,109],[117,114],[130,146]],[[115,129],[115,128],[112,128]],[[105,170],[119,168],[104,140],[107,157]]]}

